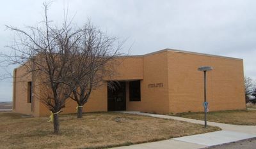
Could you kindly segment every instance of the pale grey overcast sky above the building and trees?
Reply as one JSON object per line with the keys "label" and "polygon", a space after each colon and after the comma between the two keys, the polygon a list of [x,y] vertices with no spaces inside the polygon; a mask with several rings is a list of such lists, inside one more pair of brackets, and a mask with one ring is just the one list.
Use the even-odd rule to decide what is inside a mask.
{"label": "pale grey overcast sky above the building and trees", "polygon": [[[44,15],[44,1],[1,1],[0,49],[8,52],[13,32]],[[110,36],[127,39],[124,52],[140,55],[164,48],[236,57],[244,60],[244,75],[256,79],[256,1],[246,0],[115,0],[65,1],[73,23],[88,18]],[[63,21],[63,0],[51,4],[49,19]],[[8,68],[12,72],[12,68]],[[3,73],[3,68],[1,68]],[[0,81],[0,101],[12,100],[12,79]]]}

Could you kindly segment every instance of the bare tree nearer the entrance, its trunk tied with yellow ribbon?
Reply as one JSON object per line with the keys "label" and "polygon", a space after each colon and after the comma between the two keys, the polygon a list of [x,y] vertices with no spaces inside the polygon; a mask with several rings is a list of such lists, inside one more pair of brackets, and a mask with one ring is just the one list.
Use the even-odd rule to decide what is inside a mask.
{"label": "bare tree nearer the entrance, its trunk tied with yellow ribbon", "polygon": [[[84,25],[82,38],[74,55],[77,55],[73,63],[73,81],[76,88],[71,99],[77,103],[77,118],[82,117],[83,106],[87,103],[93,89],[103,85],[104,78],[111,80],[116,75],[116,57],[122,55],[116,38],[111,38],[93,27],[88,21]],[[109,85],[109,83],[108,83]],[[111,83],[110,83],[111,85]]]}

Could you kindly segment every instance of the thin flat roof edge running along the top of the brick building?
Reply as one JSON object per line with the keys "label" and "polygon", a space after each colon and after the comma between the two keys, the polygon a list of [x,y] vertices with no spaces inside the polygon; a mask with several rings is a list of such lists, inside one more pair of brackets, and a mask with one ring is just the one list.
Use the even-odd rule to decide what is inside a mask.
{"label": "thin flat roof edge running along the top of the brick building", "polygon": [[195,54],[195,55],[204,55],[204,56],[209,56],[209,57],[220,57],[220,58],[224,58],[224,59],[243,60],[243,59],[239,59],[239,58],[235,58],[235,57],[225,57],[225,56],[212,55],[212,54],[207,54],[207,53],[189,52],[189,51],[184,51],[184,50],[176,50],[176,49],[172,49],[172,48],[165,48],[163,50],[159,50],[159,51],[151,52],[151,53],[146,53],[144,55],[127,55],[127,56],[124,56],[124,57],[143,57],[143,56],[154,55],[154,54],[161,53],[161,52],[166,52],[166,51],[178,52],[178,53],[188,53],[188,54]]}

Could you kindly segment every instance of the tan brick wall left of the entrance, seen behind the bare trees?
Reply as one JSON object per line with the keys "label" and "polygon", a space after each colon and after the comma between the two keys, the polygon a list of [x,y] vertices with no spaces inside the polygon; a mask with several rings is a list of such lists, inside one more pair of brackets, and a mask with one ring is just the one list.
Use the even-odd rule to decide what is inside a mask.
{"label": "tan brick wall left of the entrance, seen behind the bare trees", "polygon": [[[15,109],[14,112],[24,113],[28,115],[33,115],[34,117],[42,117],[50,115],[50,111],[44,106],[43,103],[37,98],[40,96],[41,92],[44,92],[45,89],[42,85],[39,85],[39,80],[35,80],[33,85],[33,111],[31,111],[31,103],[28,103],[28,82],[31,82],[32,76],[24,74],[26,73],[26,67],[20,66],[16,71],[16,82],[13,82],[13,86],[15,86],[16,92],[13,92],[13,97],[15,97]],[[108,111],[108,99],[107,96],[107,85],[104,82],[102,87],[99,87],[96,90],[92,91],[90,99],[88,99],[88,103],[84,104],[83,111],[84,112],[92,112],[92,111]],[[76,102],[69,99],[66,108],[63,108],[62,113],[76,113]]]}

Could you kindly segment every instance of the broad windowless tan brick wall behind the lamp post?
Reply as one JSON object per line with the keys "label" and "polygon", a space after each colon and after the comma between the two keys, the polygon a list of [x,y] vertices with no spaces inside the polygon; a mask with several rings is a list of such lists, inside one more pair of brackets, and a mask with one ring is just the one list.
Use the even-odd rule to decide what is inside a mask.
{"label": "broad windowless tan brick wall behind the lamp post", "polygon": [[204,74],[207,72],[209,110],[244,109],[243,60],[168,51],[170,112],[204,111]]}

